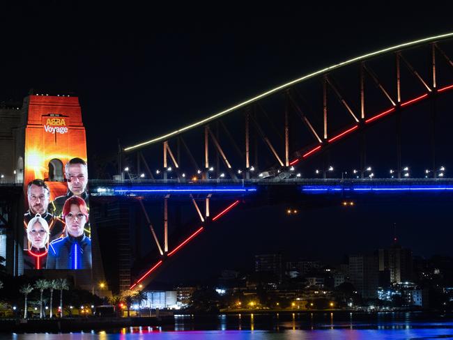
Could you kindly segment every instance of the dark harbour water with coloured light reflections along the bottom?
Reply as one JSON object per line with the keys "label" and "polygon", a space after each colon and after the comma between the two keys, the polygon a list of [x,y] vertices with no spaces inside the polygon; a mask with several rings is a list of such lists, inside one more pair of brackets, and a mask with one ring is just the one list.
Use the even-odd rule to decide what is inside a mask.
{"label": "dark harbour water with coloured light reflections along the bottom", "polygon": [[175,316],[164,327],[128,327],[63,334],[0,334],[0,339],[453,339],[452,314],[295,313]]}

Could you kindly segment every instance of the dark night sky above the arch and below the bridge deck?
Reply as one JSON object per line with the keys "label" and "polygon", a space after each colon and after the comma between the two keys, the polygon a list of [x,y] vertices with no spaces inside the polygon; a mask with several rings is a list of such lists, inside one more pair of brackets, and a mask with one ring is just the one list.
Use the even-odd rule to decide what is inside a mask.
{"label": "dark night sky above the arch and below the bridge deck", "polygon": [[[453,31],[451,11],[431,4],[419,10],[1,6],[0,101],[21,101],[30,88],[77,93],[89,161],[116,153],[118,139],[129,146],[327,65]],[[243,210],[203,235],[162,279],[252,268],[257,252],[339,262],[344,254],[389,245],[394,222],[415,254],[452,256],[450,206],[401,203],[398,215],[385,205],[325,208],[291,219],[284,206]],[[240,252],[231,255],[233,248]]]}

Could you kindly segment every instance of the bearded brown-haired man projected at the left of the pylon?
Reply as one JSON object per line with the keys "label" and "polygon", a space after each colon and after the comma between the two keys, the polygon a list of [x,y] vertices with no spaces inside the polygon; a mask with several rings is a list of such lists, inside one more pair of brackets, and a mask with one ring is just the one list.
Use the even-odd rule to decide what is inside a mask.
{"label": "bearded brown-haired man projected at the left of the pylon", "polygon": [[65,223],[47,212],[49,206],[50,190],[44,180],[32,180],[27,186],[27,197],[29,200],[29,211],[24,215],[24,227],[26,230],[30,219],[39,214],[49,225],[50,240],[60,238],[65,230]]}

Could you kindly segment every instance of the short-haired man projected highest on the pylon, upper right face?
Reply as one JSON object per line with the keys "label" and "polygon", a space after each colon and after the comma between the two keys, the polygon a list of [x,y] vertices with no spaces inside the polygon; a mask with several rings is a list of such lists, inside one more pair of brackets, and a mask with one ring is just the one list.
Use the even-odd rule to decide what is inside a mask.
{"label": "short-haired man projected highest on the pylon, upper right face", "polygon": [[63,205],[70,196],[79,196],[88,206],[88,193],[86,185],[88,184],[88,169],[86,162],[82,158],[72,158],[65,166],[65,176],[68,180],[68,192],[65,196],[59,196],[52,201],[52,212],[56,216],[61,215]]}

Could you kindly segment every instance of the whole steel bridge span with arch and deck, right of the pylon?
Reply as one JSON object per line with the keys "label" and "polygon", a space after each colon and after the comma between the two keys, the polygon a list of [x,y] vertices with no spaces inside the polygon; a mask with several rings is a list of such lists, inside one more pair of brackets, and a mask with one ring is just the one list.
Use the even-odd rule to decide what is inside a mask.
{"label": "whole steel bridge span with arch and deck, right of the pylon", "polygon": [[[114,160],[98,164],[89,193],[95,204],[135,206],[135,226],[148,233],[146,252],[123,265],[122,289],[146,286],[238,209],[451,198],[452,38],[332,60],[178,130],[119,146]],[[115,173],[102,176],[107,167]]]}

